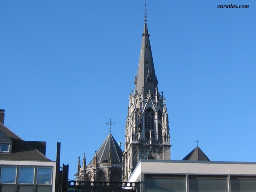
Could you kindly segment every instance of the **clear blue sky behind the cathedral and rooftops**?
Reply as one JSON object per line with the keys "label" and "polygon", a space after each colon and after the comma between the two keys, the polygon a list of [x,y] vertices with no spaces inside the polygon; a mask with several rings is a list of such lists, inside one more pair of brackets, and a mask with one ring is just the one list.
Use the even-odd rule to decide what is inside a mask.
{"label": "clear blue sky behind the cathedral and rooftops", "polygon": [[[46,156],[89,162],[108,135],[124,142],[144,2],[0,1],[0,108]],[[171,159],[199,147],[213,161],[256,161],[256,1],[147,0],[159,91],[169,114]],[[248,9],[220,9],[224,4]],[[124,150],[123,146],[122,149]]]}

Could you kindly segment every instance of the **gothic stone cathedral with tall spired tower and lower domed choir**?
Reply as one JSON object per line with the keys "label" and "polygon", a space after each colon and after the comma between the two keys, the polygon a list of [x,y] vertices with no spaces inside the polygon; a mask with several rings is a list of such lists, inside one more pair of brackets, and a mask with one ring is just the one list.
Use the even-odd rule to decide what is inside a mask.
{"label": "gothic stone cathedral with tall spired tower and lower domed choir", "polygon": [[[140,159],[170,160],[168,114],[158,92],[145,14],[135,90],[129,96],[124,152],[111,134],[86,165],[78,157],[77,181],[125,182]],[[110,119],[111,122],[111,119]]]}

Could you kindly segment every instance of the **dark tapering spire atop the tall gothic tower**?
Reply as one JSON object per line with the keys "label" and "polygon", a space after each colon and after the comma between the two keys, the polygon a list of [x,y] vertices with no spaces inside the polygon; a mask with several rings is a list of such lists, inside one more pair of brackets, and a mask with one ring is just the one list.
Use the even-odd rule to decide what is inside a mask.
{"label": "dark tapering spire atop the tall gothic tower", "polygon": [[158,85],[158,80],[156,78],[155,69],[154,69],[154,62],[153,62],[150,40],[149,40],[150,34],[148,33],[146,18],[147,16],[145,14],[145,20],[144,20],[145,23],[144,23],[142,43],[140,48],[138,73],[134,80],[135,93],[138,92],[138,94],[141,94],[143,91],[143,94],[146,96],[148,94],[148,91],[150,90],[150,93],[152,94],[152,96],[154,96],[156,94],[155,90]]}

